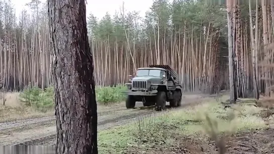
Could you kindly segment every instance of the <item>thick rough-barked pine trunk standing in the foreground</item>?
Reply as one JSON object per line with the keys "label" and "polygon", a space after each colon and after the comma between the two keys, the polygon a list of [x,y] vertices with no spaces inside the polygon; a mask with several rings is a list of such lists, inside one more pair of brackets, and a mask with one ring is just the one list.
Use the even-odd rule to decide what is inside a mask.
{"label": "thick rough-barked pine trunk standing in the foreground", "polygon": [[85,1],[48,0],[48,6],[56,154],[98,153],[94,68],[87,38]]}

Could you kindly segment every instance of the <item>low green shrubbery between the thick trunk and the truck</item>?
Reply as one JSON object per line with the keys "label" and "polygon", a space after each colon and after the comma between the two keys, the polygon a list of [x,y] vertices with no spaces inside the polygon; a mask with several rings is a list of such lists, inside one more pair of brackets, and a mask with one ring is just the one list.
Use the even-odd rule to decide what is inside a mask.
{"label": "low green shrubbery between the thick trunk and the truck", "polygon": [[118,85],[116,87],[97,87],[96,89],[96,100],[103,105],[110,103],[118,103],[125,100],[123,91],[127,90],[124,85]]}

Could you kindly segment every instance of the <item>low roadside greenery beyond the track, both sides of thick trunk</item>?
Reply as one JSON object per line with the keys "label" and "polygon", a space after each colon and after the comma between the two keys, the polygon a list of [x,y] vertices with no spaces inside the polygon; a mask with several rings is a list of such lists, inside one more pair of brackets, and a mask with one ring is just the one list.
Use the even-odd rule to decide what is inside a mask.
{"label": "low roadside greenery beyond the track, both sides of thick trunk", "polygon": [[[126,90],[124,85],[96,87],[97,102],[102,106],[121,103],[126,98],[123,94]],[[21,92],[2,92],[0,100],[0,122],[54,115],[52,86],[44,90],[39,87],[27,87]]]}

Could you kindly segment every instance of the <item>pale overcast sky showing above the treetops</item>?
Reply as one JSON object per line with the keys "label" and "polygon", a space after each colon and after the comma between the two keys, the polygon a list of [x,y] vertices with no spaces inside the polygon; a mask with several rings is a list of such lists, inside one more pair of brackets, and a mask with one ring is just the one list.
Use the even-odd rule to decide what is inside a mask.
{"label": "pale overcast sky showing above the treetops", "polygon": [[[26,3],[31,2],[31,0],[11,0],[14,8],[16,9],[16,16],[19,17],[22,9],[27,9]],[[123,1],[125,2],[126,11],[140,11],[140,16],[144,17],[145,12],[151,7],[153,0],[86,0],[86,14],[93,13],[97,18],[102,19],[102,17],[109,12],[112,16],[115,10],[120,11],[122,8]],[[45,2],[45,0],[41,0]]]}

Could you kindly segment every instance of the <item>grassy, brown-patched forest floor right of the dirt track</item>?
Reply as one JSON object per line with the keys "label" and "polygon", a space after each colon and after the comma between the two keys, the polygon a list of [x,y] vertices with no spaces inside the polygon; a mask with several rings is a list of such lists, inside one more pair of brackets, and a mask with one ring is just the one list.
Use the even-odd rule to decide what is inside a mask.
{"label": "grassy, brown-patched forest floor right of the dirt track", "polygon": [[273,110],[252,99],[220,103],[227,98],[103,130],[100,153],[217,153],[214,135],[223,138],[226,153],[274,153]]}

